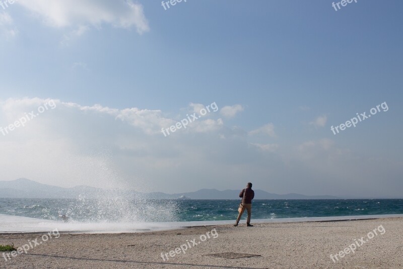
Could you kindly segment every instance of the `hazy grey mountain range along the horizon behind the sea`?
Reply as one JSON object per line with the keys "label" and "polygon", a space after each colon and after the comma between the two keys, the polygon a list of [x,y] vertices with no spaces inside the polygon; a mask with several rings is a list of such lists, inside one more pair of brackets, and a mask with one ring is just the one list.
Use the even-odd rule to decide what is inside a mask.
{"label": "hazy grey mountain range along the horizon behind the sea", "polygon": [[[133,190],[105,190],[89,186],[63,188],[41,184],[26,178],[12,181],[0,181],[0,198],[94,198],[104,195],[121,195],[128,198],[142,199],[239,199],[240,190],[201,189],[195,192],[167,194],[163,192],[141,193]],[[307,196],[297,193],[274,194],[255,190],[256,199],[340,199],[340,197],[322,195]]]}

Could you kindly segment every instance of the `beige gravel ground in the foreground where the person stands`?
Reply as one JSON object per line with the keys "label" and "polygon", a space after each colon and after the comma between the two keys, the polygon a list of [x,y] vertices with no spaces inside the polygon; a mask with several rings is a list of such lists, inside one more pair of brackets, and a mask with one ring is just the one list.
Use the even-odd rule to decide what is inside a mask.
{"label": "beige gravel ground in the foreground where the person stands", "polygon": [[[372,237],[369,232],[373,233],[372,239],[369,239]],[[222,225],[151,233],[52,237],[29,249],[27,254],[18,254],[7,261],[0,257],[0,267],[403,268],[403,218],[267,223],[250,228],[245,224]],[[41,234],[0,235],[0,244],[14,243],[15,247],[21,247],[28,242],[34,245],[35,239],[37,243],[42,241]],[[191,242],[193,239],[196,245]],[[367,242],[360,243],[363,241],[359,239]],[[344,251],[356,240],[362,245],[356,247],[354,253],[351,252],[354,246],[351,246],[350,251],[346,251],[349,253],[341,253],[343,257],[338,254],[338,260],[332,261],[330,254],[334,256]],[[184,250],[186,245],[185,253],[178,248],[181,245]],[[169,255],[170,251],[174,257]],[[163,254],[165,261],[161,252],[168,252]],[[242,257],[244,254],[252,257]]]}

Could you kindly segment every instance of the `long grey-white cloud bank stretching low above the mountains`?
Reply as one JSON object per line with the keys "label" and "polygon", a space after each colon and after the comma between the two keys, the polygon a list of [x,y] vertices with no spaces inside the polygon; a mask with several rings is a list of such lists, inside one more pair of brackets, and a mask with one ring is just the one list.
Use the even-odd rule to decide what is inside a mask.
{"label": "long grey-white cloud bank stretching low above the mountains", "polygon": [[[0,127],[47,101],[0,101]],[[59,186],[124,186],[172,193],[209,186],[236,188],[253,179],[256,188],[275,193],[365,196],[368,190],[380,193],[379,178],[387,181],[401,175],[401,162],[357,156],[330,139],[251,143],[245,130],[225,126],[214,113],[165,137],[161,128],[177,119],[160,110],[55,103],[55,109],[25,127],[5,136],[0,131],[0,180],[26,177]],[[275,135],[273,124],[251,133]],[[395,189],[384,188],[382,194],[397,193]]]}

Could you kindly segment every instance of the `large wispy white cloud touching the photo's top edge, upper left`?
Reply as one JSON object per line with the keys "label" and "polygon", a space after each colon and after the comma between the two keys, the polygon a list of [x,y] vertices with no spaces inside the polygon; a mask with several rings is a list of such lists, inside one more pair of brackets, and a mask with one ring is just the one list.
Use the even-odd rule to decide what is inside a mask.
{"label": "large wispy white cloud touching the photo's top edge, upper left", "polygon": [[101,27],[110,24],[118,28],[135,27],[142,34],[149,31],[143,6],[130,0],[19,0],[19,5],[51,27],[77,28],[76,34],[85,25]]}

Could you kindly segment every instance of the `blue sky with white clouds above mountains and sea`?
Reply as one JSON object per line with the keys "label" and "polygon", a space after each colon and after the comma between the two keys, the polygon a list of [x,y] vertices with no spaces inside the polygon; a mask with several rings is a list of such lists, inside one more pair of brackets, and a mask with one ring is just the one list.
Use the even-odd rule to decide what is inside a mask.
{"label": "blue sky with white clouds above mountains and sea", "polygon": [[403,197],[401,1],[6,3],[0,180]]}

